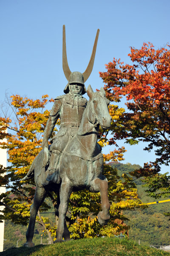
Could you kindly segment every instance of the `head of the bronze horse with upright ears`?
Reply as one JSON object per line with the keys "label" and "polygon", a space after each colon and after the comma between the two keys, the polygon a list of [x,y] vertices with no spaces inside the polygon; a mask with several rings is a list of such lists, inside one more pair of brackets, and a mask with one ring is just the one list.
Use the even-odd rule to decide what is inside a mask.
{"label": "head of the bronze horse with upright ears", "polygon": [[103,129],[108,129],[111,126],[112,118],[108,111],[110,101],[106,98],[105,90],[101,87],[99,91],[94,93],[91,85],[89,85],[87,93],[91,105],[88,108],[88,120],[93,124],[98,122]]}

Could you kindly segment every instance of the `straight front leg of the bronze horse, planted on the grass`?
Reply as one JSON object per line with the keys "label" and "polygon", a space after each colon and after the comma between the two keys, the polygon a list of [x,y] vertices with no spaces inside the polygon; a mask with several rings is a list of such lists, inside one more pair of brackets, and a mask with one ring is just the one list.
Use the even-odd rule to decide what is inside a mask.
{"label": "straight front leg of the bronze horse, planted on the grass", "polygon": [[65,216],[68,209],[68,203],[70,199],[70,195],[72,192],[72,186],[70,181],[67,179],[63,180],[59,189],[59,219],[58,219],[58,227],[57,227],[57,240],[56,242],[63,242],[70,240],[70,232],[67,228]]}

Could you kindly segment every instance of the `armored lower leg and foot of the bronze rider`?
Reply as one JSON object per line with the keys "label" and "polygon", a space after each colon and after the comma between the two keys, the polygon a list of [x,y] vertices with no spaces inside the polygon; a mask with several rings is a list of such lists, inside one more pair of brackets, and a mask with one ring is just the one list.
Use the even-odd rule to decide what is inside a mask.
{"label": "armored lower leg and foot of the bronze rider", "polygon": [[59,182],[60,182],[59,158],[60,158],[60,152],[58,150],[53,150],[51,152],[50,164],[49,164],[49,167],[48,167],[49,174],[46,178],[46,180],[49,181],[49,183],[59,184]]}

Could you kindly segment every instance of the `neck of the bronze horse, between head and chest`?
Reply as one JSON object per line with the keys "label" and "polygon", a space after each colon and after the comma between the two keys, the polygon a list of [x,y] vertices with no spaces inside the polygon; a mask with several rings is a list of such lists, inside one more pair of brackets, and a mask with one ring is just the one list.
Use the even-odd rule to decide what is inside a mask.
{"label": "neck of the bronze horse, between head and chest", "polygon": [[[79,130],[77,133],[77,137],[79,141],[81,142],[82,146],[86,149],[88,152],[89,157],[95,156],[95,150],[96,150],[96,143],[97,143],[97,137],[98,137],[98,131],[99,131],[99,125],[92,124],[88,120],[88,108],[89,104],[85,108],[85,111],[82,116],[82,121],[79,126]],[[95,127],[94,127],[95,126]]]}

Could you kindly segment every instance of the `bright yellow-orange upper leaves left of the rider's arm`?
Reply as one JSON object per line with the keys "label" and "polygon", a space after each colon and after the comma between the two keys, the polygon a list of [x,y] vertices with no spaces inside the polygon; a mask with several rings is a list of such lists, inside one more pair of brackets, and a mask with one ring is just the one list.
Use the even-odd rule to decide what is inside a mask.
{"label": "bright yellow-orange upper leaves left of the rider's arm", "polygon": [[33,100],[12,95],[11,105],[17,116],[15,124],[9,125],[9,118],[0,118],[0,124],[2,122],[3,126],[8,126],[8,131],[12,131],[12,134],[6,134],[7,142],[3,144],[3,148],[8,150],[8,162],[12,163],[17,175],[28,172],[29,166],[41,150],[42,135],[50,113],[48,110],[43,113],[47,98],[48,95],[42,95],[41,100]]}

